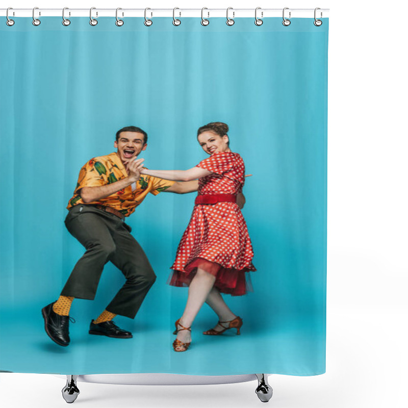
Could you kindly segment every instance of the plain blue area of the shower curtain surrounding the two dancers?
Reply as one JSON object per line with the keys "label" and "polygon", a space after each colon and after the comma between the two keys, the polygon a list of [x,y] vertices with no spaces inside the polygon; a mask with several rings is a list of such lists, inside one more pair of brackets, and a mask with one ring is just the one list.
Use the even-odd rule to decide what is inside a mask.
{"label": "plain blue area of the shower curtain surrounding the two dancers", "polygon": [[[325,371],[328,19],[76,17],[1,18],[1,370],[22,373],[228,375]],[[90,336],[89,323],[123,285],[105,265],[94,300],[74,299],[71,343],[44,331],[84,253],[64,225],[81,167],[116,151],[115,134],[148,134],[150,169],[206,159],[197,129],[228,124],[245,163],[242,209],[256,271],[244,296],[224,295],[241,335],[203,336],[217,316],[203,305],[192,344],[174,352],[174,321],[188,289],[167,285],[196,193],[148,194],[126,218],[157,279],[135,319],[115,318],[132,339]],[[249,276],[247,276],[248,278]]]}

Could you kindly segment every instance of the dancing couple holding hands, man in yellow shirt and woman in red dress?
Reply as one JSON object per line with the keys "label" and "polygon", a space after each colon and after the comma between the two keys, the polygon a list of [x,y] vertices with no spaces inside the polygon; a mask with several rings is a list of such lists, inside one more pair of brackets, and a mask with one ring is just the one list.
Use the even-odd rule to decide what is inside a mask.
{"label": "dancing couple holding hands, man in yellow shirt and woman in red dress", "polygon": [[228,126],[221,122],[200,127],[197,140],[210,157],[189,170],[150,170],[143,167],[143,159],[137,159],[147,147],[146,132],[127,126],[116,133],[116,152],[91,159],[82,167],[65,225],[86,252],[58,300],[42,309],[45,331],[54,342],[69,344],[71,303],[75,297],[95,297],[109,261],[121,270],[126,282],[103,313],[91,321],[89,334],[132,338],[113,318],[134,318],[156,275],[124,220],[147,193],[162,191],[184,194],[198,190],[169,280],[170,285],[189,287],[185,311],[175,322],[174,350],[186,351],[190,346],[191,325],[204,302],[219,321],[203,334],[219,335],[230,328],[240,334],[242,319],[227,307],[221,293],[245,294],[245,273],[256,269],[240,211],[245,202],[244,163],[231,151],[227,132]]}

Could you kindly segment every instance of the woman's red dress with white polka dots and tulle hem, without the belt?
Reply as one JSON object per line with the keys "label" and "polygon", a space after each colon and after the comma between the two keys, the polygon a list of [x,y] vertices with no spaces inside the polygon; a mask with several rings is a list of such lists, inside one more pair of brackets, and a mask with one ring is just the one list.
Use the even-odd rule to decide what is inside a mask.
{"label": "woman's red dress with white polka dots and tulle hem, without the belt", "polygon": [[[213,173],[198,180],[198,195],[234,194],[242,191],[245,166],[241,156],[217,151],[197,167]],[[197,267],[216,276],[222,293],[240,296],[251,290],[246,273],[256,271],[246,223],[235,202],[195,205],[183,234],[168,283],[188,286]]]}

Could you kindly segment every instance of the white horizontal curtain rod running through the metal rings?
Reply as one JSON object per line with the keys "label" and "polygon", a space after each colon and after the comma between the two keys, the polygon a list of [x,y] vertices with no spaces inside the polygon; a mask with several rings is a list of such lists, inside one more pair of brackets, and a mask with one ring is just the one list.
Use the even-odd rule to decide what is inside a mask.
{"label": "white horizontal curtain rod running through the metal rings", "polygon": [[[149,17],[172,17],[173,9],[147,9]],[[225,17],[226,9],[180,9],[175,8],[176,17],[201,17],[201,13],[208,17]],[[7,9],[0,9],[0,15],[6,16]],[[282,17],[283,9],[262,9],[258,8],[258,16],[265,17]],[[313,18],[314,9],[291,9],[286,8],[287,17]],[[253,17],[253,9],[234,9],[230,8],[229,15],[235,17]],[[289,16],[290,13],[290,16]],[[318,17],[328,17],[329,9],[319,9]],[[116,9],[98,9],[94,8],[92,15],[94,17],[115,17]],[[145,9],[120,9],[120,17],[144,17]],[[13,9],[9,10],[9,17],[32,17],[33,9]],[[62,9],[41,9],[36,8],[36,16],[39,17],[59,17],[62,16]],[[65,9],[65,16],[68,17],[89,17],[89,9]]]}

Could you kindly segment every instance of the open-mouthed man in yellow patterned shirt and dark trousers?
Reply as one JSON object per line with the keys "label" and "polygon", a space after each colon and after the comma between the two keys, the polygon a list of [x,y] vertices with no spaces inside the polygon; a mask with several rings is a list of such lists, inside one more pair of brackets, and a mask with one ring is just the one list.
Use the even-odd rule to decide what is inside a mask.
{"label": "open-mouthed man in yellow patterned shirt and dark trousers", "polygon": [[57,344],[68,346],[69,310],[72,300],[94,299],[104,265],[111,261],[126,282],[96,320],[89,334],[120,339],[132,338],[119,328],[116,315],[134,318],[156,275],[143,249],[130,234],[124,220],[148,193],[162,191],[189,193],[198,182],[172,182],[152,176],[140,176],[134,162],[147,147],[147,133],[136,126],[116,133],[116,152],[89,160],[79,174],[73,197],[68,202],[65,225],[70,234],[86,248],[73,268],[59,299],[42,309],[47,335]]}

